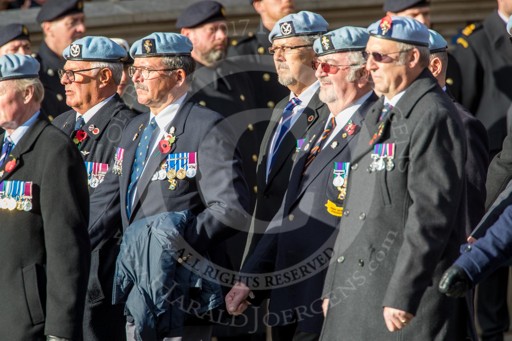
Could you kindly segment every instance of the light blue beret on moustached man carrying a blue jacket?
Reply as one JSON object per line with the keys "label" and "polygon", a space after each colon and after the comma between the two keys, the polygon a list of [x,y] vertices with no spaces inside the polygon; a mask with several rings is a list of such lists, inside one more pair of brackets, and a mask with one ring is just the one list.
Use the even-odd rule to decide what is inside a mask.
{"label": "light blue beret on moustached man carrying a blue jacket", "polygon": [[192,49],[192,42],[183,34],[155,32],[134,42],[130,48],[130,56],[190,56]]}

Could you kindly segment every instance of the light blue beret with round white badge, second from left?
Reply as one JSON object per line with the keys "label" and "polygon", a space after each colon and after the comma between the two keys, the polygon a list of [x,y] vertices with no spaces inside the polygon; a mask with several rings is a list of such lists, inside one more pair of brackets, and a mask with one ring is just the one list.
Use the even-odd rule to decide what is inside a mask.
{"label": "light blue beret with round white badge, second from left", "polygon": [[62,52],[66,60],[118,62],[126,51],[106,37],[87,36],[75,40]]}

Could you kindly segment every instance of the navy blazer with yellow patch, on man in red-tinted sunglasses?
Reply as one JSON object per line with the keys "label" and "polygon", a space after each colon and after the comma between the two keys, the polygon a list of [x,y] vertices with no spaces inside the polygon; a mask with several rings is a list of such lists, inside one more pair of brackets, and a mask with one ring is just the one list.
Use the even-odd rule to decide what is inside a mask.
{"label": "navy blazer with yellow patch, on man in red-tinted sunglasses", "polygon": [[[361,127],[366,112],[377,99],[373,93],[352,115],[357,127]],[[251,301],[259,304],[270,289],[270,320],[276,316],[272,312],[281,317],[284,315],[282,311],[289,310],[290,314],[269,321],[269,324],[284,325],[297,319],[298,328],[310,333],[322,330],[324,315],[319,298],[337,235],[336,226],[341,219],[340,215],[329,212],[328,202],[343,207],[343,200],[338,198],[339,191],[332,184],[334,162],[350,162],[359,135],[357,128],[351,135],[344,135],[342,128],[304,173],[311,148],[324,131],[326,122],[327,118],[319,121],[306,136],[291,170],[281,209],[241,271],[244,274],[275,271],[271,281],[260,280],[259,285],[252,283],[256,297]]]}

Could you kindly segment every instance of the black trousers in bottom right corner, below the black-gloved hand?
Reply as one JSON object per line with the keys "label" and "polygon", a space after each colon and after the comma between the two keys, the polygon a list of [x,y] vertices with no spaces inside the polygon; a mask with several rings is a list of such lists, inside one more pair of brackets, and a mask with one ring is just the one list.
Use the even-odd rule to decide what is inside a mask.
{"label": "black trousers in bottom right corner, below the black-gloved hand", "polygon": [[503,341],[510,327],[507,307],[508,266],[500,267],[478,285],[477,317],[482,341]]}

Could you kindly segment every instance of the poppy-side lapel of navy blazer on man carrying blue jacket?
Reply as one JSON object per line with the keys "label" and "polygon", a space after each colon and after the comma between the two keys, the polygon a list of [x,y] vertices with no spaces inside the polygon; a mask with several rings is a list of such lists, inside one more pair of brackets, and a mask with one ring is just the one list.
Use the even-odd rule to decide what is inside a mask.
{"label": "poppy-side lapel of navy blazer on man carrying blue jacket", "polygon": [[[151,177],[155,173],[155,170],[159,167],[159,165],[162,163],[164,158],[167,157],[167,155],[172,154],[176,150],[176,145],[180,143],[180,135],[183,134],[183,131],[185,129],[185,121],[187,120],[188,113],[192,109],[196,102],[193,99],[188,99],[183,101],[183,104],[178,109],[178,112],[176,113],[176,116],[170,123],[165,127],[165,131],[168,131],[170,127],[174,126],[176,129],[174,136],[176,137],[175,142],[171,145],[170,150],[167,153],[158,153],[157,149],[152,153],[152,155],[149,155],[147,157],[147,163],[144,166],[144,171],[142,172],[140,179],[137,182],[137,192],[135,193],[135,199],[132,205],[132,211],[131,211],[131,218],[130,222],[133,219],[133,212],[136,208],[136,206],[139,203],[139,200],[142,196],[142,194],[146,191],[147,186],[150,184]],[[160,138],[162,133],[159,133],[159,136],[156,138]],[[152,142],[153,142],[152,137]],[[157,155],[158,153],[158,155]],[[133,162],[132,162],[133,164]],[[131,170],[130,170],[131,171]]]}

